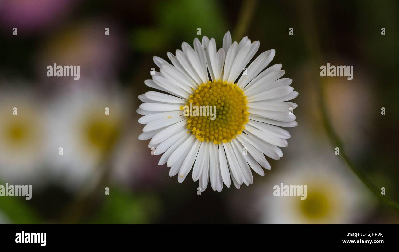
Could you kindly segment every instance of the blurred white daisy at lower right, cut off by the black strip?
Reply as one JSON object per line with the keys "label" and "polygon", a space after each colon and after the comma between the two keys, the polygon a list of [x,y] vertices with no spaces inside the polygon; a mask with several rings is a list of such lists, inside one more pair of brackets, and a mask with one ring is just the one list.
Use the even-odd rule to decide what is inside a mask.
{"label": "blurred white daisy at lower right, cut off by the black strip", "polygon": [[[306,157],[289,162],[283,173],[262,187],[259,198],[253,201],[257,213],[252,215],[268,224],[361,223],[375,207],[367,188],[340,166],[335,155]],[[273,185],[280,183],[306,185],[306,199],[276,197]]]}

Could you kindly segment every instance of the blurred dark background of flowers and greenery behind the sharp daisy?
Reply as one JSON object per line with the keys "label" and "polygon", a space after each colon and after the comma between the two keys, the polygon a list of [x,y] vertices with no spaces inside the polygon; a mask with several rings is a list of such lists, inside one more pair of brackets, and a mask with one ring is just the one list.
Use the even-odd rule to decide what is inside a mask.
{"label": "blurred dark background of flowers and greenery behind the sharp daisy", "polygon": [[[397,224],[398,213],[377,200],[342,153],[399,200],[398,5],[0,1],[0,185],[32,185],[31,200],[0,197],[0,223]],[[233,41],[259,40],[255,56],[276,49],[271,65],[282,63],[299,92],[298,126],[288,129],[284,156],[268,158],[272,169],[264,177],[254,175],[239,190],[209,187],[197,195],[198,182],[179,184],[166,165],[158,166],[149,140],[138,140],[137,96],[150,91],[144,80],[156,67],[153,56],[167,59],[168,51],[203,35],[219,48],[228,30]],[[53,63],[80,65],[80,79],[47,77]],[[353,65],[354,79],[320,78],[327,63]],[[340,156],[320,100],[342,141]],[[307,199],[274,197],[280,183],[307,185]]]}

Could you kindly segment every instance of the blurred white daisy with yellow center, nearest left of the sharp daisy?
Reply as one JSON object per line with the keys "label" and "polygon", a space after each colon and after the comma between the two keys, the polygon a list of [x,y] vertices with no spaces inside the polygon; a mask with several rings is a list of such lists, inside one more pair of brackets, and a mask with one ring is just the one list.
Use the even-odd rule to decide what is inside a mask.
{"label": "blurred white daisy with yellow center, nearest left of the sharp daisy", "polygon": [[101,177],[102,170],[95,169],[106,165],[103,158],[122,132],[126,108],[121,97],[90,89],[57,98],[51,106],[50,172],[68,189],[91,187]]}

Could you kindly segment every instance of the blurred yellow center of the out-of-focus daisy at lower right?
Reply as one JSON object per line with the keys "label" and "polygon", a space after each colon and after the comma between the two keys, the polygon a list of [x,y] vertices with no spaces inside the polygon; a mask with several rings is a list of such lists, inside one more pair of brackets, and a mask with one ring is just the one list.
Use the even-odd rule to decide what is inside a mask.
{"label": "blurred yellow center of the out-of-focus daisy at lower right", "polygon": [[307,194],[306,200],[300,200],[300,210],[308,219],[320,219],[331,213],[328,193],[313,191]]}

